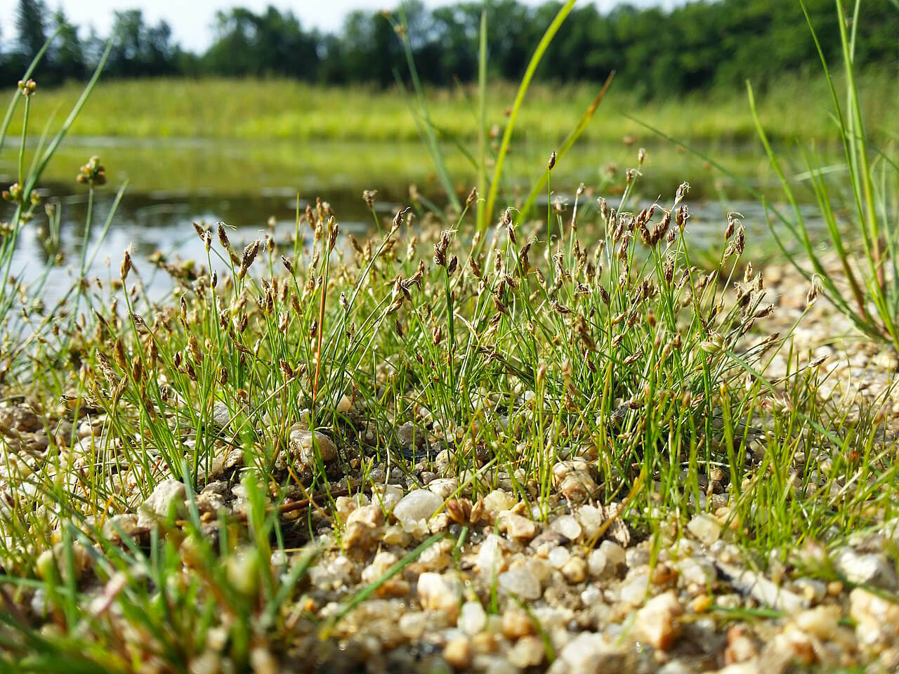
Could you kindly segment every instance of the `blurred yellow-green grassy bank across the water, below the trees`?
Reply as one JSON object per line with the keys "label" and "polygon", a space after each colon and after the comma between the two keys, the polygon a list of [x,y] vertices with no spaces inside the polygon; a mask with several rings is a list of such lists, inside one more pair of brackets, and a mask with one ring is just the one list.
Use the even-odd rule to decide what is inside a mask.
{"label": "blurred yellow-green grassy bank across the water, below the trees", "polygon": [[[878,137],[899,102],[899,80],[886,72],[868,72],[860,78],[860,88],[868,131]],[[530,139],[561,139],[574,128],[599,89],[599,83],[535,85],[521,111],[518,128]],[[69,84],[39,93],[49,104],[37,106],[31,120],[35,129],[43,128],[52,111],[66,110],[80,88]],[[106,81],[93,93],[72,134],[410,141],[417,139],[418,132],[407,95],[398,90],[310,86],[284,79]],[[475,137],[473,95],[464,88],[429,92],[432,120],[447,137]],[[759,95],[761,120],[775,140],[835,142],[829,95],[821,77],[785,76]],[[502,129],[503,112],[514,96],[511,84],[492,88],[488,123]],[[743,91],[644,102],[613,84],[583,141],[645,136],[646,130],[628,116],[692,142],[733,144],[755,140]],[[13,133],[18,133],[17,123],[13,121]]]}

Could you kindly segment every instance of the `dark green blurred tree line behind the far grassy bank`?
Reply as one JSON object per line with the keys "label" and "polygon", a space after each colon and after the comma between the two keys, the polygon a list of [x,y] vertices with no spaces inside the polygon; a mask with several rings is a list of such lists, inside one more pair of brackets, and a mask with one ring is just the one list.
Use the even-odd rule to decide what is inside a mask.
{"label": "dark green blurred tree line behind the far grassy bank", "polygon": [[[405,77],[404,39],[427,84],[467,83],[477,77],[481,13],[486,13],[491,75],[518,80],[543,31],[562,3],[517,0],[458,2],[433,10],[405,0],[393,12],[349,13],[336,33],[305,29],[291,12],[269,6],[219,11],[214,40],[203,53],[182,49],[168,23],[149,24],[140,10],[114,13],[111,36],[84,31],[61,9],[20,0],[13,34],[0,24],[0,78],[14,82],[54,31],[40,65],[41,84],[85,79],[113,47],[105,75],[286,76],[310,83],[388,86]],[[833,0],[805,0],[828,60],[840,54]],[[853,4],[853,3],[848,3]],[[847,17],[850,21],[850,15]],[[892,0],[860,5],[857,59],[899,73],[899,8]],[[556,35],[538,78],[601,81],[645,96],[733,88],[747,78],[763,86],[784,73],[817,71],[818,55],[798,0],[699,0],[671,10],[620,4],[608,13],[575,7]]]}

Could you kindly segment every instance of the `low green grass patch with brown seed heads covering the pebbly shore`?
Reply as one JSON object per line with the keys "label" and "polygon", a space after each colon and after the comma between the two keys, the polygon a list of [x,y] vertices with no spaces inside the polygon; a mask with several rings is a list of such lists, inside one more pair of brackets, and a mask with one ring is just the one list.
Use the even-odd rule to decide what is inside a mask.
{"label": "low green grass patch with brown seed heads covering the pebbly shore", "polygon": [[[110,289],[124,311],[94,304],[97,324],[48,334],[30,354],[52,365],[33,370],[30,399],[46,401],[43,418],[96,417],[98,435],[85,442],[76,426],[62,437],[47,427],[55,439],[37,463],[13,461],[22,446],[14,433],[4,439],[10,477],[29,489],[0,525],[2,581],[13,606],[42,588],[56,625],[32,633],[11,613],[9,652],[33,664],[77,649],[117,670],[134,657],[185,662],[222,630],[238,665],[253,644],[286,648],[314,548],[288,581],[271,555],[314,540],[327,520],[342,545],[348,522],[329,494],[376,489],[371,469],[384,462],[411,475],[447,462],[449,474],[467,476],[458,493],[470,489],[472,501],[511,481],[545,518],[555,488],[577,500],[594,484],[609,502],[636,482],[627,517],[651,537],[702,510],[700,477],[717,469],[735,540],[760,560],[888,516],[895,447],[878,439],[876,410],[847,419],[819,400],[810,370],[777,386],[761,376],[784,342],[762,327],[761,276],[734,278],[742,227],[723,224],[717,269],[699,272],[681,236],[684,192],[653,212],[630,211],[626,192],[616,208],[553,214],[548,245],[539,225],[516,227],[507,215],[474,256],[458,234],[473,225],[470,212],[451,231],[410,226],[400,213],[387,235],[348,256],[335,251],[343,236],[324,206],[298,217],[286,249],[257,240],[241,253],[224,228],[200,230],[209,256],[194,277],[174,279],[180,306],[149,305],[126,256],[121,290]],[[78,368],[65,364],[72,359]],[[68,412],[49,403],[60,399]],[[443,458],[397,454],[405,421],[426,425]],[[320,434],[306,454],[295,444],[305,426]],[[338,455],[325,461],[319,450],[332,441]],[[750,467],[759,446],[763,459]],[[818,481],[811,466],[825,446],[834,458]],[[217,459],[231,448],[243,450],[243,466],[222,474]],[[800,454],[808,469],[797,482]],[[558,466],[574,457],[595,478],[559,483]],[[77,477],[60,481],[67,474]],[[248,527],[191,506],[121,547],[103,524],[165,480],[181,481],[191,501],[213,475],[243,484]],[[839,496],[833,483],[846,486]],[[272,506],[293,494],[316,494],[324,514],[280,519]],[[79,571],[105,588],[99,614],[80,594]]]}

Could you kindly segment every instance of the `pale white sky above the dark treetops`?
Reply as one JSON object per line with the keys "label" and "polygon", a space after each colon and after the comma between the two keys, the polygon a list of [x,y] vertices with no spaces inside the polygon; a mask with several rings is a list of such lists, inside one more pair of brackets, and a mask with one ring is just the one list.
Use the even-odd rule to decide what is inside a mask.
{"label": "pale white sky above the dark treetops", "polygon": [[[523,0],[527,4],[540,4],[542,0]],[[62,6],[70,22],[87,27],[93,24],[97,33],[107,35],[112,24],[113,10],[140,9],[147,22],[156,23],[161,19],[172,27],[174,39],[183,48],[201,51],[212,41],[212,19],[217,10],[239,5],[260,12],[269,4],[280,10],[290,10],[299,17],[304,28],[316,27],[323,31],[336,31],[343,17],[354,9],[384,9],[397,4],[396,0],[45,0],[50,9]],[[587,0],[581,0],[586,4]],[[630,4],[670,5],[674,0],[630,0]],[[619,0],[595,0],[602,11],[606,11]],[[429,7],[449,4],[448,0],[424,0]],[[9,40],[14,31],[16,0],[0,0],[0,17],[9,17],[2,22],[3,39]]]}

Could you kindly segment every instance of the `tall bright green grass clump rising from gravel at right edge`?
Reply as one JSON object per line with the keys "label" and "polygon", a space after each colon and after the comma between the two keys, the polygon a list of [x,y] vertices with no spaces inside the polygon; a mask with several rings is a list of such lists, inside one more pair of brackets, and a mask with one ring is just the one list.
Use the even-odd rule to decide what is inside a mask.
{"label": "tall bright green grass clump rising from gravel at right edge", "polygon": [[[834,273],[821,248],[814,243],[814,235],[809,233],[793,188],[761,124],[751,86],[748,91],[756,128],[793,210],[792,217],[777,213],[777,221],[787,227],[789,235],[800,244],[803,255],[788,253],[790,262],[807,278],[814,276],[823,295],[862,333],[899,351],[899,262],[896,251],[896,241],[899,240],[899,166],[891,158],[894,140],[886,141],[888,145],[884,148],[876,146],[871,140],[869,120],[862,114],[862,96],[855,67],[856,20],[860,5],[857,0],[850,21],[841,0],[836,3],[846,81],[844,103],[840,102],[830,67],[806,12],[806,21],[821,56],[823,72],[832,95],[832,118],[845,157],[844,164],[825,167],[814,152],[807,152],[807,179],[812,184],[821,217],[827,226],[832,244],[830,254],[835,256],[841,274]],[[805,5],[803,11],[806,11]],[[829,176],[834,170],[839,175],[837,180]],[[843,210],[849,213],[848,217],[841,216]],[[780,243],[779,232],[773,227],[771,231],[781,248],[787,251]],[[860,245],[848,241],[847,232]],[[811,265],[810,270],[804,262]]]}

